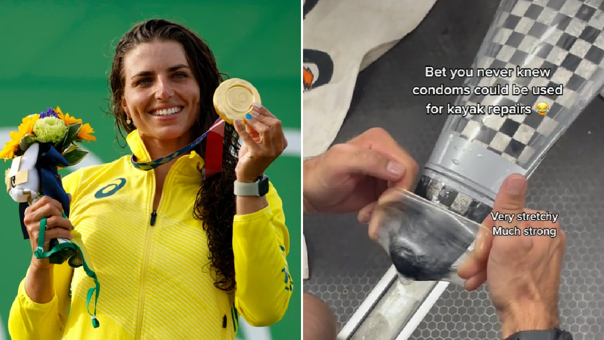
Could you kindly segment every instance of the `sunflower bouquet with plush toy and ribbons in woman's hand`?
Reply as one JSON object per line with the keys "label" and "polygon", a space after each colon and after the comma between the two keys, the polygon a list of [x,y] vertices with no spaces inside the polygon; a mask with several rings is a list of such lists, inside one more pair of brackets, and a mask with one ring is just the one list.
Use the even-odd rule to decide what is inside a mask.
{"label": "sunflower bouquet with plush toy and ribbons in woman's hand", "polygon": [[[76,165],[88,154],[77,146],[77,142],[96,140],[91,134],[89,124],[82,125],[81,119],[63,114],[60,108],[48,108],[40,114],[32,114],[23,119],[18,132],[11,132],[11,140],[0,151],[0,158],[12,160],[11,167],[5,173],[5,183],[10,197],[19,203],[21,230],[25,240],[29,238],[24,223],[25,209],[43,196],[59,201],[63,206],[63,217],[69,217],[69,196],[61,182],[59,168]],[[97,319],[97,300],[100,284],[92,267],[92,262],[82,242],[82,235],[73,229],[72,239],[51,240],[48,250],[44,249],[44,234],[47,218],[40,220],[40,232],[36,258],[48,258],[50,263],[83,267],[86,275],[94,280],[94,287],[88,290],[86,303],[94,295],[94,313],[90,313],[92,325],[99,326]]]}

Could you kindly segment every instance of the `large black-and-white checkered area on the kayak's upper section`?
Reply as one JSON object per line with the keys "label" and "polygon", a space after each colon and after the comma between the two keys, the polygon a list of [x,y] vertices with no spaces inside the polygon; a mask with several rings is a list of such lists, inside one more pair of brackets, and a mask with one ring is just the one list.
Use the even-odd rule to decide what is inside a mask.
{"label": "large black-and-white checkered area on the kayak's upper section", "polygon": [[[556,134],[573,122],[604,85],[604,4],[597,0],[503,1],[494,28],[478,52],[474,68],[513,68],[512,77],[469,77],[464,86],[492,87],[512,84],[528,87],[525,96],[459,97],[456,105],[531,106],[548,103],[547,116],[515,114],[468,115],[453,129],[490,151],[517,163],[532,166],[536,151],[549,145]],[[488,42],[488,43],[487,43]],[[516,67],[546,68],[548,77],[516,77]],[[475,71],[476,72],[476,71]],[[535,96],[532,87],[556,87],[562,96]]]}

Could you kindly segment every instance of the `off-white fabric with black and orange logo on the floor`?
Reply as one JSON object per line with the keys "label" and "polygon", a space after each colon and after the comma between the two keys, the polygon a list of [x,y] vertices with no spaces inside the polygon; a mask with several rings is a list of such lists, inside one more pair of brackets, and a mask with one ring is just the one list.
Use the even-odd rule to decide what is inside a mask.
{"label": "off-white fabric with black and orange logo on the floor", "polygon": [[436,0],[304,0],[303,157],[333,143],[361,70],[413,31]]}

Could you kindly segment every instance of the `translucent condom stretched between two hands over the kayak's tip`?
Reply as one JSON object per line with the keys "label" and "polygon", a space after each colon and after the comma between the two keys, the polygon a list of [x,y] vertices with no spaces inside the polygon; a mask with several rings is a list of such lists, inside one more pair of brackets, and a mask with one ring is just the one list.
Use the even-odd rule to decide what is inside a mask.
{"label": "translucent condom stretched between two hands over the kayak's tip", "polygon": [[401,283],[448,281],[463,286],[457,267],[472,250],[480,224],[403,189],[390,189],[374,211],[379,243]]}

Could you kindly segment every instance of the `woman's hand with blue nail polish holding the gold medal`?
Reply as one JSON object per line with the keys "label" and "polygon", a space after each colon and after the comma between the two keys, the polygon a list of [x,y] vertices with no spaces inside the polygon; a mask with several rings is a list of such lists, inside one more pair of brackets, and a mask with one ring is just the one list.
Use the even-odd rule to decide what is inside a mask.
{"label": "woman's hand with blue nail polish holding the gold medal", "polygon": [[234,126],[243,140],[235,168],[237,181],[255,182],[288,146],[281,120],[264,106],[254,103],[251,113],[245,117],[245,126],[239,119],[235,120]]}

